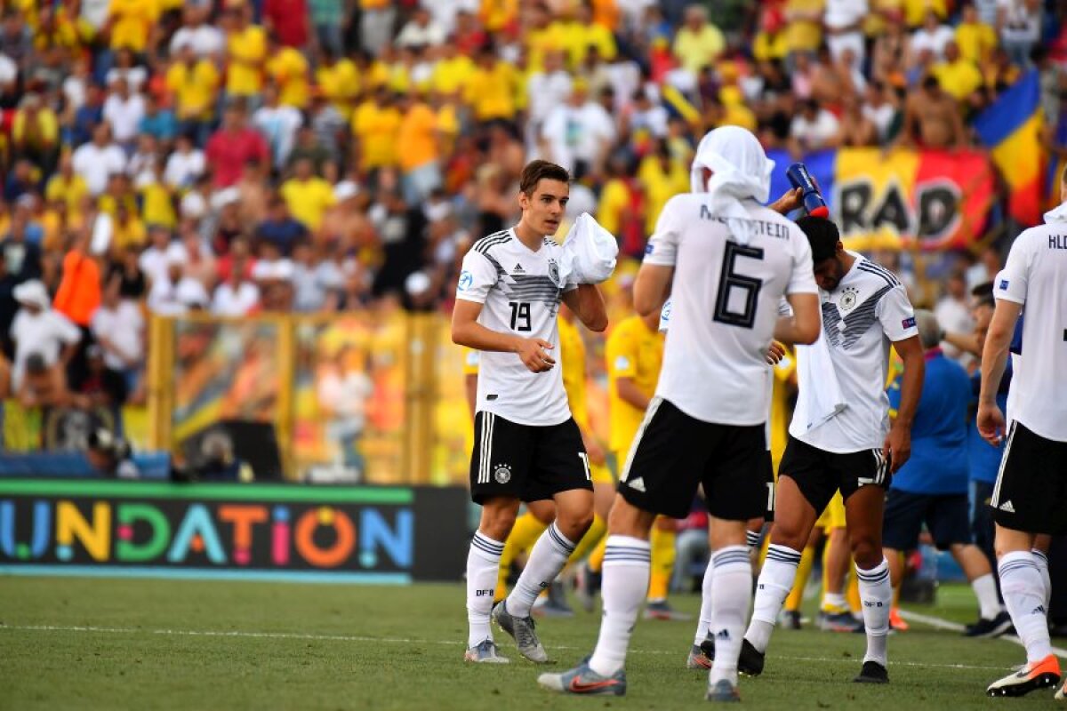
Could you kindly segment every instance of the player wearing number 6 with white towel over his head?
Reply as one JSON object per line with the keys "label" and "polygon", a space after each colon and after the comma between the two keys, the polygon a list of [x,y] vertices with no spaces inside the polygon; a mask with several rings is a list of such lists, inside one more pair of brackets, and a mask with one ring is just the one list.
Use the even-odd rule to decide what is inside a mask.
{"label": "player wearing number 6 with white towel over his head", "polygon": [[[760,142],[730,126],[704,136],[694,190],[664,207],[634,284],[641,316],[671,296],[656,395],[619,482],[604,556],[604,615],[592,656],[542,686],[621,696],[626,648],[649,584],[649,531],[657,514],[687,515],[703,485],[715,550],[712,629],[718,656],[707,698],[736,700],[737,653],[751,600],[746,522],[767,505],[766,353],[771,339],[818,336],[811,248],[800,229],[767,209],[769,161]],[[780,319],[786,296],[794,316]]]}

